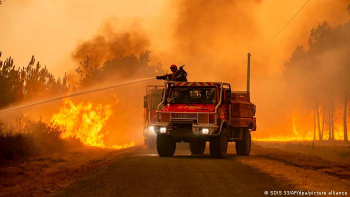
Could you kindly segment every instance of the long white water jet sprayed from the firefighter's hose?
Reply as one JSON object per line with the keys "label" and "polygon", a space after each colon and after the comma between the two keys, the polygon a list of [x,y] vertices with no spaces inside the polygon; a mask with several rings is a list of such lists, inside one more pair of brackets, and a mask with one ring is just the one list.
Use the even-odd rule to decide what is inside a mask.
{"label": "long white water jet sprayed from the firefighter's hose", "polygon": [[105,89],[111,89],[111,88],[119,87],[119,86],[123,86],[123,85],[130,85],[130,84],[134,84],[134,83],[144,82],[144,81],[152,80],[152,79],[155,79],[155,78],[154,77],[149,77],[149,78],[144,78],[144,79],[140,79],[140,80],[137,80],[137,81],[126,82],[126,83],[112,85],[112,86],[107,86],[107,87],[102,87],[102,88],[98,88],[98,89],[90,89],[90,90],[86,90],[86,91],[80,91],[80,92],[72,93],[72,94],[69,94],[69,95],[58,96],[58,97],[50,98],[50,99],[47,99],[47,100],[38,101],[38,102],[35,102],[35,103],[30,103],[30,104],[26,104],[26,105],[21,105],[21,106],[17,106],[17,107],[13,107],[13,108],[0,110],[0,113],[13,111],[13,110],[21,109],[21,108],[26,108],[26,107],[29,107],[29,106],[34,106],[34,105],[42,104],[42,103],[45,103],[45,102],[52,102],[52,101],[59,100],[59,99],[62,99],[62,98],[73,97],[73,96],[77,96],[77,95],[81,95],[81,94],[85,94],[85,93],[91,93],[91,92],[101,91],[101,90],[105,90]]}

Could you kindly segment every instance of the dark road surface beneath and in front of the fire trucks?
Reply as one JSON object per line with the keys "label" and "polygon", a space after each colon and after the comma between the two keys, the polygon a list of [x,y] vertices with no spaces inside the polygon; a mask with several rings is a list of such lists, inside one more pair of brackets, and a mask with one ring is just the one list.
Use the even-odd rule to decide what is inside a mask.
{"label": "dark road surface beneath and in front of the fire trucks", "polygon": [[272,177],[239,161],[230,144],[225,159],[177,148],[173,157],[139,148],[115,157],[105,168],[54,193],[55,196],[263,196],[264,191],[295,190],[285,178]]}

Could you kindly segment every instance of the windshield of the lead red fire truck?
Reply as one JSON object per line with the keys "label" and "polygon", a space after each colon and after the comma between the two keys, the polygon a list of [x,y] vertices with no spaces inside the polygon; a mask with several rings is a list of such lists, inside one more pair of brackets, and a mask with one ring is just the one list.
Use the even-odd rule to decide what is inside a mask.
{"label": "windshield of the lead red fire truck", "polygon": [[215,87],[172,86],[169,98],[174,104],[213,104],[216,102]]}

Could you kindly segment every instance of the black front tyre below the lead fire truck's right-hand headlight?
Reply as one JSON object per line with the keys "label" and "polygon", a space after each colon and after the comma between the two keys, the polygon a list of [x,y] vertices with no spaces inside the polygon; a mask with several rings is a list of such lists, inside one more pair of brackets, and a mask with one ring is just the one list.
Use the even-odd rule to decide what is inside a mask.
{"label": "black front tyre below the lead fire truck's right-hand headlight", "polygon": [[221,133],[217,136],[212,136],[209,143],[210,156],[213,158],[223,158],[227,151],[228,131],[223,127]]}

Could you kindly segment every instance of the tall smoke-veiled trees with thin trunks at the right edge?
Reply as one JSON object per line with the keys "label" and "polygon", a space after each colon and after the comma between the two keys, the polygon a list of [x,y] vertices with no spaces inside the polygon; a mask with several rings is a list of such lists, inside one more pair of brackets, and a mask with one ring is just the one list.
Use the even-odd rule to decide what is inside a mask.
{"label": "tall smoke-veiled trees with thin trunks at the right edge", "polygon": [[[294,96],[306,100],[314,111],[318,139],[323,138],[328,111],[328,139],[334,139],[336,102],[343,100],[343,139],[347,141],[347,102],[350,83],[350,21],[332,28],[326,21],[312,28],[308,47],[296,47],[285,62],[284,75]],[[321,122],[320,110],[323,111]],[[322,125],[321,125],[322,124]],[[315,128],[314,128],[315,130]],[[314,132],[315,133],[315,132]],[[315,134],[314,134],[315,138]]]}

